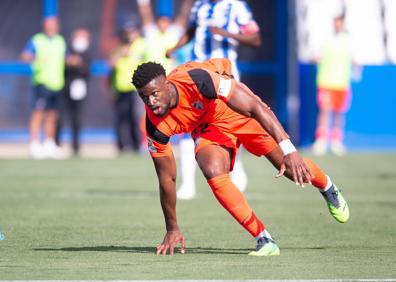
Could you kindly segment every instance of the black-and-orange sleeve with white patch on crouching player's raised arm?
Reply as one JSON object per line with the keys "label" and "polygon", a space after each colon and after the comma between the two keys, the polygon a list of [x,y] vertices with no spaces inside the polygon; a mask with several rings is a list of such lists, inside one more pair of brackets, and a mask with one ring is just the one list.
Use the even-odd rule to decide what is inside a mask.
{"label": "black-and-orange sleeve with white patch on crouching player's raised arm", "polygon": [[189,70],[188,74],[201,95],[207,99],[227,102],[236,85],[234,78],[209,69],[195,68]]}

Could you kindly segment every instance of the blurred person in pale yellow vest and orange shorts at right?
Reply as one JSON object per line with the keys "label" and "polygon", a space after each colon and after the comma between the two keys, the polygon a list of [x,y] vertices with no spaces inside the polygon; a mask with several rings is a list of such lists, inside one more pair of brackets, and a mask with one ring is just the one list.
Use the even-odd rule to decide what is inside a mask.
{"label": "blurred person in pale yellow vest and orange shorts at right", "polygon": [[319,114],[313,153],[323,155],[330,149],[336,155],[344,155],[343,144],[345,112],[350,106],[350,80],[352,52],[349,35],[344,29],[344,15],[334,18],[334,36],[325,43],[317,71],[317,102]]}

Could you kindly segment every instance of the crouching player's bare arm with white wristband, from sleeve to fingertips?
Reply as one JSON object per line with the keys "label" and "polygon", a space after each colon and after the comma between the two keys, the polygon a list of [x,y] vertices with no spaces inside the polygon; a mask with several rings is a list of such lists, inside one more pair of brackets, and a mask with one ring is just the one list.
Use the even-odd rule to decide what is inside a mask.
{"label": "crouching player's bare arm with white wristband, from sleeve to fingertips", "polygon": [[260,125],[275,139],[283,151],[284,159],[277,177],[289,170],[296,184],[304,187],[304,181],[313,178],[308,166],[291,143],[289,135],[283,129],[271,109],[261,101],[245,84],[236,83],[226,103],[234,111],[257,120]]}

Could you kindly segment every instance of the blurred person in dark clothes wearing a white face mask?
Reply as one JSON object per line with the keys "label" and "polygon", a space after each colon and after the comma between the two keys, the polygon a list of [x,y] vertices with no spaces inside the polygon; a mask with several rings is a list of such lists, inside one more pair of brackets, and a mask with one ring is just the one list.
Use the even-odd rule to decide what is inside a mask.
{"label": "blurred person in dark clothes wearing a white face mask", "polygon": [[65,91],[63,91],[56,141],[60,144],[61,129],[65,120],[70,120],[72,151],[80,152],[81,114],[88,94],[89,67],[91,64],[90,32],[77,28],[72,32],[65,69]]}

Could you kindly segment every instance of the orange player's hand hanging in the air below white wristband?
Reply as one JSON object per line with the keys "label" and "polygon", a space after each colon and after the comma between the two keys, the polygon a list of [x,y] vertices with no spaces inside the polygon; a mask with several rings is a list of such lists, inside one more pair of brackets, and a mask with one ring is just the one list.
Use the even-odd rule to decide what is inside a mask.
{"label": "orange player's hand hanging in the air below white wristband", "polygon": [[288,171],[296,185],[304,187],[304,182],[311,184],[314,175],[298,152],[287,154],[283,158],[280,170],[276,177],[280,177]]}

